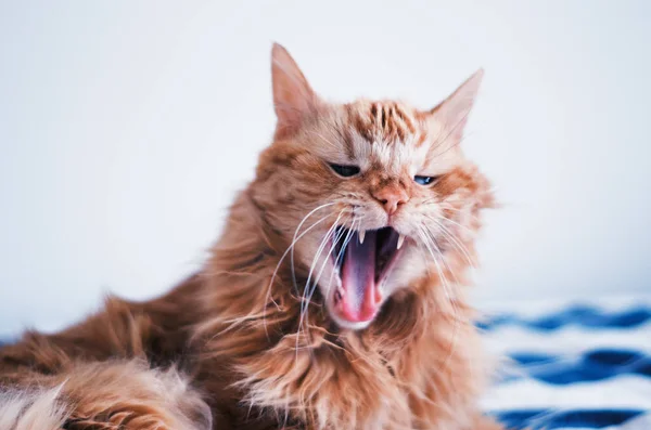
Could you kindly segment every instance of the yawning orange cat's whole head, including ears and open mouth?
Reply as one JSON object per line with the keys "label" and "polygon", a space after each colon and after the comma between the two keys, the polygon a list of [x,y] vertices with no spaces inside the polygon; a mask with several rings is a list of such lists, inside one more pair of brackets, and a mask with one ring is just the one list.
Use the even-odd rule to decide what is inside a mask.
{"label": "yawning orange cat's whole head, including ears and open mouth", "polygon": [[318,289],[332,320],[359,329],[419,278],[454,276],[448,253],[472,259],[477,211],[493,199],[460,143],[482,70],[420,110],[326,102],[278,44],[271,68],[278,123],[252,191],[306,300]]}

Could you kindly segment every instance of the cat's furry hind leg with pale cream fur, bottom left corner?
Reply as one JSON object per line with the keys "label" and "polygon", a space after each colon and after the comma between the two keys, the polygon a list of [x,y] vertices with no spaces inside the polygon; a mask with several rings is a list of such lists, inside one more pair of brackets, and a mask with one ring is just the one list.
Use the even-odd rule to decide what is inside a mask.
{"label": "cat's furry hind leg with pale cream fur, bottom left corner", "polygon": [[0,418],[8,421],[1,428],[212,429],[209,407],[180,373],[142,361],[79,363],[54,376],[24,373],[14,382],[0,394],[0,412],[13,414]]}

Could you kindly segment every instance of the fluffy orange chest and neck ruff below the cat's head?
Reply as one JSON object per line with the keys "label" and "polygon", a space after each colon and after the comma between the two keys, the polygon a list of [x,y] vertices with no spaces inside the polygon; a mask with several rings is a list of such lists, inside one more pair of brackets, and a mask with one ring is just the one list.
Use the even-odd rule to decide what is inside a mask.
{"label": "fluffy orange chest and neck ruff below the cat's head", "polygon": [[[462,290],[450,297],[441,278],[462,276],[461,256],[450,255],[447,264],[458,273],[419,279],[386,302],[368,329],[340,330],[320,297],[302,321],[291,263],[277,270],[279,256],[263,240],[272,235],[261,235],[245,194],[233,213],[204,274],[199,297],[207,316],[195,338],[200,379],[235,428],[471,425],[487,366]],[[243,231],[260,236],[241,240]],[[297,285],[304,276],[297,273]]]}

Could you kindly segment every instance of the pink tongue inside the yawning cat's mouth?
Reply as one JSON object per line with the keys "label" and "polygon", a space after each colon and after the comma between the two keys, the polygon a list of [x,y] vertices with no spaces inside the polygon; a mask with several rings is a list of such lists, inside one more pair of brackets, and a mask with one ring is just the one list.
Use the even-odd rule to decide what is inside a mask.
{"label": "pink tongue inside the yawning cat's mouth", "polygon": [[375,232],[367,232],[363,244],[355,233],[342,264],[344,294],[337,303],[341,316],[359,323],[375,316],[380,294],[375,285]]}

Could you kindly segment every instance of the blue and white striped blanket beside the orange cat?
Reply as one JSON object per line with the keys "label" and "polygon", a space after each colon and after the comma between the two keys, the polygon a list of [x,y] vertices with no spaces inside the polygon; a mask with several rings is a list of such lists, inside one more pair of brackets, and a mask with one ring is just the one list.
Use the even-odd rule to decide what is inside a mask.
{"label": "blue and white striped blanket beside the orange cat", "polygon": [[500,308],[481,324],[509,359],[485,411],[513,429],[651,430],[651,298]]}

